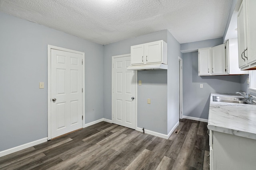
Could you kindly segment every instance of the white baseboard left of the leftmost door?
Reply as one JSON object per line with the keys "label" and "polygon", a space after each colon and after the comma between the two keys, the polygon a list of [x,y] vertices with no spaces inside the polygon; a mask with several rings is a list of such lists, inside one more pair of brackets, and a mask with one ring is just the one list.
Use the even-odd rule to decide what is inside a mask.
{"label": "white baseboard left of the leftmost door", "polygon": [[44,142],[47,142],[47,137],[45,137],[43,139],[38,139],[38,140],[30,142],[30,143],[25,143],[23,145],[20,145],[20,146],[14,147],[14,148],[3,150],[3,151],[0,152],[0,157],[11,154],[11,153],[14,153],[14,152],[17,152],[17,151],[20,151],[22,149],[27,149],[29,147],[33,147],[35,145],[38,145],[38,144],[44,143]]}

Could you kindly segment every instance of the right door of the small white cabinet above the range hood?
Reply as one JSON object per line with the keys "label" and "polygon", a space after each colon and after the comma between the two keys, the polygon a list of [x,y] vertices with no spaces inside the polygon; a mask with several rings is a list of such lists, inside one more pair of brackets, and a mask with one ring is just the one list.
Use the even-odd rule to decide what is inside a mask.
{"label": "right door of the small white cabinet above the range hood", "polygon": [[162,63],[162,42],[156,41],[145,44],[145,62],[151,63]]}

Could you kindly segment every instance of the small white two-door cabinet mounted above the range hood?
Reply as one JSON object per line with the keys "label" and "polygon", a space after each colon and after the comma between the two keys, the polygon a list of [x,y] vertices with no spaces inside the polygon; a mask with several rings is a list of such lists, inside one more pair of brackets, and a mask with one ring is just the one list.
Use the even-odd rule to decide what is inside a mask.
{"label": "small white two-door cabinet mounted above the range hood", "polygon": [[167,64],[167,43],[163,40],[131,46],[131,65]]}

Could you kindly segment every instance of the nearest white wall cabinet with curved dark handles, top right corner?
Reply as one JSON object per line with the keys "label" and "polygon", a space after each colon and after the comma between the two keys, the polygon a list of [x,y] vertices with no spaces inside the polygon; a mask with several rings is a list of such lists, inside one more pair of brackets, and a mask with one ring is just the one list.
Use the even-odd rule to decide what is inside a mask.
{"label": "nearest white wall cabinet with curved dark handles, top right corner", "polygon": [[241,70],[256,70],[256,1],[243,0],[237,16]]}

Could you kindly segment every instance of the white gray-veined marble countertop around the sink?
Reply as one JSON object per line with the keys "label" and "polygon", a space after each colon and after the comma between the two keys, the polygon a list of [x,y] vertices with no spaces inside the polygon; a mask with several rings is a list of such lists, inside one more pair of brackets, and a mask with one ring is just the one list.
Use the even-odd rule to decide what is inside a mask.
{"label": "white gray-veined marble countertop around the sink", "polygon": [[211,93],[208,129],[256,139],[256,105],[213,102],[212,96],[242,97],[237,94]]}

